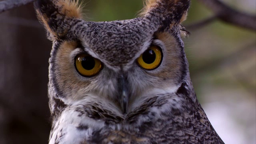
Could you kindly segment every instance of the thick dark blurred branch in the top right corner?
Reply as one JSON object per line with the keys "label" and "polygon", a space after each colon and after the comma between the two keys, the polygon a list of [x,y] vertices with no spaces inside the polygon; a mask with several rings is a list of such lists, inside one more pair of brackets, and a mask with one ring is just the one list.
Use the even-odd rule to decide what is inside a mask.
{"label": "thick dark blurred branch in the top right corner", "polygon": [[256,16],[238,12],[219,0],[198,0],[210,8],[222,21],[256,31]]}

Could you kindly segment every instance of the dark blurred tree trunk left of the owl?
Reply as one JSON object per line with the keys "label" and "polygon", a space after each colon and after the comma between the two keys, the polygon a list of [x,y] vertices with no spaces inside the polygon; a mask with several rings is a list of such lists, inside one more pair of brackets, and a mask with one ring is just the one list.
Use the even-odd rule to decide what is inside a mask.
{"label": "dark blurred tree trunk left of the owl", "polygon": [[33,4],[0,13],[0,144],[47,143],[50,49]]}

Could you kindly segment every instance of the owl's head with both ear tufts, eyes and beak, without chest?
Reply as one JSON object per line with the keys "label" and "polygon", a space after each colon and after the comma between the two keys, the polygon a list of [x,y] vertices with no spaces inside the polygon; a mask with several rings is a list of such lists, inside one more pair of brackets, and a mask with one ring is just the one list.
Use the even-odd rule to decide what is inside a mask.
{"label": "owl's head with both ear tufts, eyes and beak, without chest", "polygon": [[52,40],[52,114],[84,101],[129,113],[146,98],[177,92],[189,81],[181,23],[190,0],[147,0],[140,18],[88,22],[72,0],[35,2]]}

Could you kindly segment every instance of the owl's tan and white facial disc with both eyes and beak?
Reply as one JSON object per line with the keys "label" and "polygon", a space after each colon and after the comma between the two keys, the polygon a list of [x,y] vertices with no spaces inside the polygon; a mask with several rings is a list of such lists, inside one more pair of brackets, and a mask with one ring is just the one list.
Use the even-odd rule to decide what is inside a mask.
{"label": "owl's tan and white facial disc with both eyes and beak", "polygon": [[[141,47],[122,47],[120,51],[104,47],[102,53],[76,41],[56,42],[51,73],[60,95],[71,103],[88,94],[117,102],[116,105],[123,101],[124,107],[120,108],[127,106],[130,110],[134,102],[155,90],[174,92],[185,76],[180,45],[168,33],[151,37]],[[127,52],[122,54],[122,50]],[[112,66],[112,61],[120,60],[122,64]]]}

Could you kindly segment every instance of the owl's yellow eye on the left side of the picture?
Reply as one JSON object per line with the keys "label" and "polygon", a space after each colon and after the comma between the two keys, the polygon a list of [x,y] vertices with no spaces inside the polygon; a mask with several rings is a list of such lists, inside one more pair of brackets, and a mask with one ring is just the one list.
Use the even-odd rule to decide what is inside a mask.
{"label": "owl's yellow eye on the left side of the picture", "polygon": [[101,62],[88,54],[79,54],[75,58],[75,66],[83,76],[94,76],[100,71]]}

